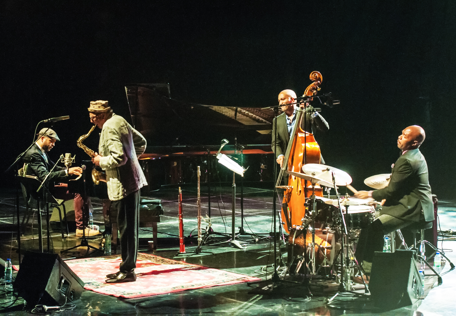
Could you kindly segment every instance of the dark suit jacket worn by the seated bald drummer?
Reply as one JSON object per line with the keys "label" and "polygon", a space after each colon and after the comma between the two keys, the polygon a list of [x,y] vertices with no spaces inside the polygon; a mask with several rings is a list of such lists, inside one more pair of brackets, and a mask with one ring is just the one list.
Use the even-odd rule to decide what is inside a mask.
{"label": "dark suit jacket worn by the seated bald drummer", "polygon": [[400,156],[394,163],[389,185],[374,190],[372,197],[377,201],[386,199],[380,214],[418,222],[423,210],[426,222],[434,220],[427,163],[420,149],[408,150]]}

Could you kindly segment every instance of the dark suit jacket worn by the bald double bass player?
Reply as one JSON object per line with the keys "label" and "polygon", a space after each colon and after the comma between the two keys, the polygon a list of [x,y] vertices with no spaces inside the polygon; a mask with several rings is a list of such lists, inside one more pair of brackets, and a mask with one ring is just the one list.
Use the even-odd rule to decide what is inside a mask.
{"label": "dark suit jacket worn by the bald double bass player", "polygon": [[[301,128],[304,130],[304,120],[301,122]],[[326,120],[321,117],[321,115],[313,118],[310,114],[306,114],[306,132],[313,134],[316,129],[320,131],[327,131],[329,129],[329,125]],[[286,114],[284,112],[277,117],[277,142],[275,141],[275,124],[273,123],[272,125],[271,148],[273,152],[277,143],[277,152],[275,158],[279,157],[280,155],[285,155],[289,142],[290,134],[288,133],[288,128],[286,126]],[[322,163],[324,163],[324,161],[322,161]]]}

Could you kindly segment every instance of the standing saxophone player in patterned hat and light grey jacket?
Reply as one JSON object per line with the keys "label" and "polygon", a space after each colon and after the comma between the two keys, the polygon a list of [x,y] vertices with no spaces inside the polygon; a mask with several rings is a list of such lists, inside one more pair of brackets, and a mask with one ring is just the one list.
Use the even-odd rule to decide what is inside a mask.
{"label": "standing saxophone player in patterned hat and light grey jacket", "polygon": [[116,115],[108,101],[90,102],[90,121],[101,129],[98,150],[92,162],[106,171],[111,209],[117,210],[122,262],[119,271],[106,275],[107,283],[136,280],[140,189],[147,185],[138,157],[145,138],[125,119]]}

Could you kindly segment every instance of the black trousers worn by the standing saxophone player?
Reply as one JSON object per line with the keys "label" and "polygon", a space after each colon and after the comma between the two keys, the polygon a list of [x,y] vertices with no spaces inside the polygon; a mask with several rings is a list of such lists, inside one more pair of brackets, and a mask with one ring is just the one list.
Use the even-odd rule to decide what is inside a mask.
{"label": "black trousers worn by the standing saxophone player", "polygon": [[120,234],[122,263],[119,270],[128,272],[136,268],[138,254],[140,190],[130,193],[118,201],[112,201],[111,208],[117,211],[117,225]]}

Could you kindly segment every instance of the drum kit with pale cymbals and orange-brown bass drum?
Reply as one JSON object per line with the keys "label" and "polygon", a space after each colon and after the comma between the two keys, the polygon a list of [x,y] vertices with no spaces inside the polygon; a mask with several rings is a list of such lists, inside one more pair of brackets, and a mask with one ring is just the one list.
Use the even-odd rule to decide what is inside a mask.
{"label": "drum kit with pale cymbals and orange-brown bass drum", "polygon": [[[339,196],[337,186],[346,186],[353,193],[358,191],[350,185],[350,175],[337,168],[308,163],[302,167],[302,173],[287,173],[307,180],[312,188],[319,184],[335,189],[337,194],[337,199],[330,199],[316,196],[314,191],[306,198],[302,224],[288,228],[288,272],[311,278],[335,275],[336,281],[349,280],[357,267],[354,251],[360,230],[373,222],[378,202]],[[390,174],[378,174],[366,178],[364,183],[373,189],[382,189],[388,186],[389,177]],[[351,290],[350,282],[344,283],[346,289]]]}

